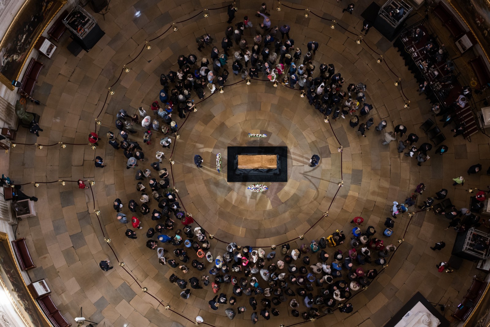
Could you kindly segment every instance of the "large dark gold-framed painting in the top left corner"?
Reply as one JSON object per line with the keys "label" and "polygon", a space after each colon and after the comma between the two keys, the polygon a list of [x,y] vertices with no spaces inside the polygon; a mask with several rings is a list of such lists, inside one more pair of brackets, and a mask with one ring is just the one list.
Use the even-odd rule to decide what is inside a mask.
{"label": "large dark gold-framed painting in the top left corner", "polygon": [[11,90],[27,57],[66,0],[25,0],[0,41],[0,82]]}

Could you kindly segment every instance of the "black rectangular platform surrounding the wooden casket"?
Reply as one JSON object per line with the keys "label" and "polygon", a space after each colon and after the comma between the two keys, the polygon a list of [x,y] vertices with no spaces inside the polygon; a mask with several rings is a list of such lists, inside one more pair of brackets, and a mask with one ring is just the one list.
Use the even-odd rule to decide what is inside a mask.
{"label": "black rectangular platform surrounding the wooden casket", "polygon": [[[238,155],[277,155],[276,169],[238,169]],[[228,182],[287,182],[287,146],[229,146],[227,160]]]}

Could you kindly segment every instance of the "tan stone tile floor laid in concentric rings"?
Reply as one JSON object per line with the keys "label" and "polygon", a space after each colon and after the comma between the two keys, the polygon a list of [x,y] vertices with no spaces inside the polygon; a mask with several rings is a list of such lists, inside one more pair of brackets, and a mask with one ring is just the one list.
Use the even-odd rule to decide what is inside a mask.
{"label": "tan stone tile floor laid in concentric rings", "polygon": [[[254,26],[260,23],[253,15],[260,2],[242,1],[237,17],[248,14]],[[308,5],[312,12],[336,19],[342,26],[350,26],[352,31],[361,28],[360,13],[368,5],[367,2],[357,2],[354,14],[349,15],[342,13],[345,5],[342,2],[294,2],[297,2],[294,7]],[[212,311],[208,308],[208,300],[214,297],[210,287],[192,290],[188,300],[179,298],[181,290],[171,285],[168,277],[172,273],[183,274],[169,266],[159,265],[156,253],[145,246],[147,239],[143,231],[154,225],[151,220],[140,217],[144,229],[137,232],[137,240],[124,237],[127,227],[115,218],[112,201],[121,198],[123,212],[129,214],[127,202],[139,198],[135,189],[135,171],[125,169],[126,159],[122,150],[114,150],[105,138],[107,131],[116,130],[115,114],[119,109],[132,113],[139,106],[147,108],[158,98],[159,75],[167,73],[171,67],[176,70],[179,54],[194,53],[199,58],[209,55],[211,47],[203,53],[196,51],[196,36],[210,33],[220,48],[219,42],[227,26],[224,9],[211,11],[207,19],[197,15],[186,23],[177,24],[177,31],[171,30],[152,41],[151,50],[145,49],[128,65],[130,71],[123,72],[117,81],[123,64],[140,52],[145,40],[165,31],[172,21],[187,19],[199,8],[221,5],[218,1],[205,0],[113,0],[105,21],[95,15],[106,34],[89,53],[82,52],[76,57],[70,54],[66,49],[70,42],[66,33],[52,59],[41,58],[46,68],[35,89],[35,97],[45,105],[29,105],[28,109],[41,115],[40,125],[44,132],[36,138],[21,129],[18,142],[86,143],[88,133],[96,126],[94,119],[102,110],[99,117],[102,125],[98,129],[102,140],[95,151],[86,145],[68,145],[65,149],[18,145],[10,151],[9,174],[16,181],[76,181],[78,178],[96,181],[93,194],[91,190],[79,190],[70,183],[64,187],[58,183],[39,188],[25,186],[27,194],[39,198],[36,203],[38,216],[21,221],[18,228],[19,236],[27,238],[38,266],[30,274],[33,279],[47,278],[54,301],[69,321],[73,321],[79,308],[83,307],[85,317],[100,322],[98,326],[103,326],[103,323],[116,327],[192,326],[196,315],[202,316],[206,323],[220,327],[250,325],[252,310],[245,297],[238,299],[238,306],[247,306],[245,315],[238,315],[231,322],[225,317],[224,309]],[[138,17],[137,13],[140,14]],[[334,63],[347,84],[365,82],[368,85],[366,102],[374,106],[370,116],[376,124],[380,119],[386,119],[387,130],[392,130],[393,126],[401,123],[407,126],[408,133],[420,136],[420,143],[427,140],[419,127],[430,117],[429,103],[418,96],[417,82],[396,50],[387,46],[387,41],[377,30],[371,28],[364,42],[358,45],[354,42],[355,36],[343,29],[331,29],[328,22],[313,15],[305,18],[302,11],[292,11],[285,6],[280,12],[272,11],[271,20],[272,24],[287,23],[291,26],[291,37],[303,54],[306,53],[306,43],[311,39],[319,41],[320,48],[315,55],[317,67],[322,62]],[[234,23],[237,21],[235,19]],[[248,35],[252,32],[245,32],[249,43],[252,36]],[[393,84],[396,77],[385,64],[376,62],[377,54],[373,54],[366,43],[383,53],[386,63],[404,81],[404,92],[411,100],[410,109],[403,108],[404,99]],[[231,72],[230,68],[228,70]],[[233,75],[229,78],[230,83],[239,80],[240,77]],[[109,96],[108,104],[103,106],[107,88],[115,82],[115,94]],[[329,216],[306,233],[303,242],[328,236],[335,229],[343,229],[348,234],[352,228],[349,221],[356,216],[364,217],[364,226],[375,226],[381,235],[392,201],[403,202],[420,182],[427,186],[424,196],[441,187],[448,189],[448,196],[458,208],[469,201],[467,188],[490,184],[489,177],[480,174],[468,177],[464,187],[452,186],[451,179],[465,176],[469,165],[479,162],[486,170],[490,164],[489,138],[481,134],[472,136],[472,141],[468,142],[461,137],[451,137],[449,127],[444,128],[449,152],[444,156],[433,155],[418,167],[414,160],[397,153],[394,142],[381,145],[382,135],[374,129],[367,132],[367,137],[361,137],[349,127],[348,120],[342,118],[331,120],[330,127],[323,122],[318,111],[308,106],[306,98],[299,96],[299,91],[282,85],[273,87],[270,82],[261,81],[252,81],[250,85],[239,83],[225,87],[224,93],[214,94],[199,103],[197,108],[179,131],[180,138],[173,140],[174,186],[179,190],[186,211],[209,233],[227,242],[265,247],[304,234],[330,206],[341,178],[343,188],[333,201]],[[182,119],[176,117],[176,121],[182,126]],[[143,144],[142,127],[136,129],[138,133],[130,138]],[[332,129],[343,145],[342,176],[341,154],[337,151],[339,144]],[[265,133],[268,137],[251,140],[247,133]],[[161,149],[159,137],[154,133],[152,144],[144,145],[148,158],[153,158],[153,153]],[[228,145],[288,146],[289,181],[265,183],[270,189],[264,193],[247,191],[246,183],[227,183],[226,165],[223,164],[223,170],[218,173],[215,156],[221,152],[225,163]],[[169,158],[170,153],[164,152]],[[316,168],[308,166],[313,153],[321,156]],[[201,169],[193,164],[195,154],[204,159]],[[95,168],[95,156],[103,157],[107,167]],[[164,161],[164,166],[170,168],[167,162]],[[149,163],[151,161],[140,164],[139,168],[147,168]],[[153,206],[156,206],[155,201],[151,203]],[[93,213],[94,207],[101,212],[104,233],[111,238],[112,247],[133,277],[117,265],[116,257],[104,242]],[[444,218],[431,213],[417,214],[410,226],[406,214],[399,217],[391,240],[384,239],[387,244],[398,245],[396,241],[408,229],[405,242],[399,246],[389,267],[368,290],[351,300],[354,312],[345,315],[336,311],[334,315],[317,320],[314,325],[382,326],[417,291],[432,302],[459,302],[459,293],[466,291],[470,276],[480,272],[468,261],[455,273],[437,272],[434,265],[449,259],[455,237],[455,232],[446,231],[445,227]],[[435,252],[429,248],[441,240],[447,244],[443,250]],[[301,243],[299,240],[296,242],[297,245]],[[225,247],[216,240],[211,244],[215,256]],[[171,246],[165,247],[170,249]],[[341,248],[346,249],[344,245]],[[333,249],[330,251],[333,253]],[[98,268],[98,262],[106,258],[115,264],[115,269],[108,273]],[[191,268],[185,278],[193,274],[195,272]],[[176,313],[165,310],[164,305],[159,305],[158,301],[142,292],[135,279],[163,303],[170,303]],[[229,286],[223,286],[223,291],[231,294]],[[289,325],[301,321],[291,316],[291,309],[286,304],[278,309],[281,311],[279,317],[273,317],[267,323],[260,319],[257,326]],[[449,314],[446,310],[446,317]]]}

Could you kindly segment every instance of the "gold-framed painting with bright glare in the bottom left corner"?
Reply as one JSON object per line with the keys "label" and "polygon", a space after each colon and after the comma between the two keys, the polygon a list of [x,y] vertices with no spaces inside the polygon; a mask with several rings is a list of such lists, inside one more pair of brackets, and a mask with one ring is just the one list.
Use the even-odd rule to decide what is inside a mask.
{"label": "gold-framed painting with bright glare in the bottom left corner", "polygon": [[0,291],[8,295],[10,304],[21,317],[25,326],[50,327],[51,325],[30,295],[22,278],[7,234],[0,233],[0,240]]}

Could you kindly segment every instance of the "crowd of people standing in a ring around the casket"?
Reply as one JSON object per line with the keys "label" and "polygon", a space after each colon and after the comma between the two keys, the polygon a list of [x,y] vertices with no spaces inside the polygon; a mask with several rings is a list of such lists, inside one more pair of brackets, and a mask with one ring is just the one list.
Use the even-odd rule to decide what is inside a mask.
{"label": "crowd of people standing in a ring around the casket", "polygon": [[[352,12],[353,8],[352,4],[345,10]],[[235,11],[233,5],[228,7],[229,24],[235,19]],[[375,131],[385,133],[382,144],[387,145],[397,136],[402,137],[407,133],[407,128],[401,124],[395,126],[393,131],[386,132],[386,120],[375,123],[369,117],[373,106],[366,102],[366,84],[356,82],[345,86],[341,73],[331,63],[322,63],[316,70],[313,61],[320,46],[318,42],[308,41],[308,51],[302,55],[300,47],[294,46],[288,25],[272,26],[265,4],[257,10],[256,16],[260,17],[259,22],[252,23],[245,16],[235,27],[226,27],[225,37],[221,40],[222,52],[213,46],[214,39],[210,34],[197,37],[199,52],[212,47],[210,59],[203,57],[199,61],[195,54],[179,55],[178,69],[160,76],[162,89],[158,94],[159,101],[154,101],[150,106],[153,116],[142,107],[131,115],[124,109],[118,112],[116,128],[119,133],[109,132],[108,141],[115,149],[123,149],[127,169],[136,169],[136,190],[141,192],[141,196],[138,201],[131,199],[127,204],[130,220],[123,213],[126,211],[125,204],[115,199],[116,217],[120,223],[131,224],[132,229],[125,231],[128,238],[136,239],[139,229],[147,230],[147,247],[156,250],[155,259],[160,264],[174,269],[170,281],[182,289],[182,299],[187,300],[192,296],[191,289],[210,287],[216,296],[209,300],[209,307],[219,310],[220,306],[224,306],[224,313],[229,319],[251,308],[252,323],[259,320],[259,315],[262,317],[260,319],[269,320],[270,316],[280,314],[278,307],[281,303],[289,303],[291,315],[301,316],[305,320],[331,314],[335,308],[349,313],[353,311],[349,299],[371,283],[378,274],[376,267],[385,265],[396,249],[394,245],[385,245],[383,240],[392,236],[392,218],[415,205],[417,196],[412,194],[402,204],[393,202],[392,217],[386,219],[386,229],[380,233],[382,235],[376,234],[374,226],[362,228],[364,219],[356,217],[351,221],[355,226],[349,237],[342,230],[336,230],[318,241],[312,240],[300,246],[284,244],[277,251],[271,248],[269,252],[230,243],[226,251],[213,255],[212,252],[216,251],[211,249],[209,236],[201,227],[192,226],[194,219],[181,207],[176,190],[170,185],[169,173],[165,167],[161,167],[165,158],[163,151],[156,152],[156,161],[150,164],[153,170],[137,168],[138,163],[145,163],[147,159],[143,148],[132,139],[133,134],[141,132],[133,124],[141,123],[143,143],[151,144],[155,133],[162,136],[162,148],[170,148],[170,133],[177,133],[178,119],[185,119],[194,108],[191,93],[204,99],[208,90],[212,94],[225,86],[230,65],[232,73],[240,75],[242,79],[254,79],[264,74],[271,82],[279,81],[291,88],[297,85],[299,90],[306,90],[312,107],[333,120],[347,118],[349,126],[357,127],[362,137],[366,137],[367,131],[374,126]],[[253,24],[256,24],[250,33],[253,39],[247,40],[245,31],[252,31]],[[368,27],[363,28],[367,33]],[[119,137],[121,141],[118,141]],[[93,143],[99,139],[97,135],[89,136]],[[405,155],[417,158],[420,165],[429,159],[428,152],[432,145],[423,143],[416,147],[413,144],[417,141],[416,134],[409,134],[406,139],[399,140],[398,152],[407,149]],[[441,145],[436,154],[444,154],[447,150],[447,146]],[[319,164],[319,160],[319,156],[314,155],[311,166]],[[198,155],[195,164],[201,167],[202,158]],[[102,158],[97,158],[96,166],[105,166]],[[158,175],[159,180],[152,175]],[[422,193],[422,186],[417,186],[416,193]],[[424,208],[432,205],[430,199],[424,202]],[[176,219],[181,221],[182,226],[175,223]],[[150,220],[156,223],[154,227]],[[347,245],[348,250],[343,252],[339,248],[341,244]],[[438,247],[441,245],[435,248]],[[104,268],[110,269],[105,265]],[[231,285],[226,285],[229,283]],[[242,305],[237,304],[237,298],[243,296],[248,298],[248,305],[243,305],[243,301]],[[198,322],[202,322],[202,318],[198,318]]]}

